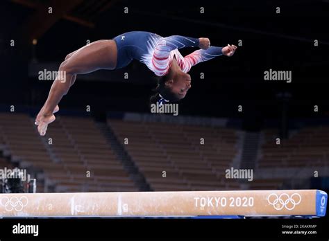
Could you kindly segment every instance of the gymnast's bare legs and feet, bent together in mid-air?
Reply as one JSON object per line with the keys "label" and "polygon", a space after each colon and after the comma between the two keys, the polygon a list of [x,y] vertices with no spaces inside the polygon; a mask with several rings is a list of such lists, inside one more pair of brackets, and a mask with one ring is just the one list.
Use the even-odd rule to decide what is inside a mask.
{"label": "gymnast's bare legs and feet, bent together in mid-air", "polygon": [[56,119],[53,113],[58,111],[58,103],[74,84],[77,74],[115,69],[116,65],[117,45],[113,40],[99,40],[67,55],[65,61],[60,64],[60,74],[53,82],[49,96],[35,119],[40,135],[44,136],[47,125]]}

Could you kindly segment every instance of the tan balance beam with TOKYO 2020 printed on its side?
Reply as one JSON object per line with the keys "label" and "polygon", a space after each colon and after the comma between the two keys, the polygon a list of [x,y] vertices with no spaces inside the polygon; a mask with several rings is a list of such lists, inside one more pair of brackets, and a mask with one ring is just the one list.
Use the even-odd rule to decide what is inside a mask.
{"label": "tan balance beam with TOKYO 2020 printed on its side", "polygon": [[324,216],[321,190],[0,194],[0,217]]}

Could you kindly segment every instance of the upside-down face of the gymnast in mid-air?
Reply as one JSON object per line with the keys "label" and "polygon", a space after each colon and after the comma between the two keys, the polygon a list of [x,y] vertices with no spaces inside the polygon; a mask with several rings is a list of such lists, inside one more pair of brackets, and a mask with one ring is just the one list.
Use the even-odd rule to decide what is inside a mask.
{"label": "upside-down face of the gymnast in mid-air", "polygon": [[191,88],[191,76],[183,71],[176,71],[172,78],[167,80],[166,85],[181,100],[185,98],[187,91]]}

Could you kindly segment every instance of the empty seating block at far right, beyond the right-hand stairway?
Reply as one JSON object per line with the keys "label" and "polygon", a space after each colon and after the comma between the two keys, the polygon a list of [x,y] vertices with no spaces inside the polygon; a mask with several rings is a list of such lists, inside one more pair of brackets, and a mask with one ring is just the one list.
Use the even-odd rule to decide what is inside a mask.
{"label": "empty seating block at far right, beyond the right-hand stairway", "polygon": [[259,168],[323,166],[329,157],[329,127],[305,127],[276,144],[277,130],[265,130]]}

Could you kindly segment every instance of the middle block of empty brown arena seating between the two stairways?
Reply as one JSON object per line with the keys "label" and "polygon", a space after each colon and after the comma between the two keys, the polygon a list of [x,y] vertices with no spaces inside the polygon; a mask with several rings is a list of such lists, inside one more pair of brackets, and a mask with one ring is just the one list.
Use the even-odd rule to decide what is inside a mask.
{"label": "middle block of empty brown arena seating between the two stairways", "polygon": [[[237,189],[224,179],[235,157],[234,130],[108,120],[154,190]],[[201,145],[201,138],[207,145]],[[164,174],[165,173],[165,174]]]}

